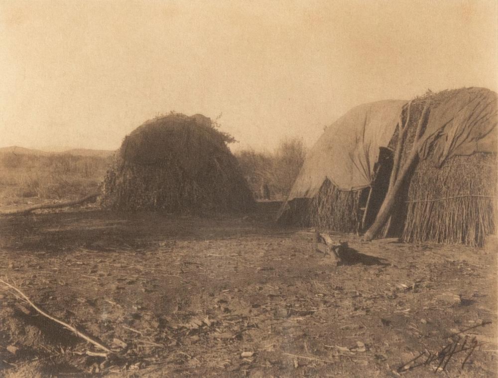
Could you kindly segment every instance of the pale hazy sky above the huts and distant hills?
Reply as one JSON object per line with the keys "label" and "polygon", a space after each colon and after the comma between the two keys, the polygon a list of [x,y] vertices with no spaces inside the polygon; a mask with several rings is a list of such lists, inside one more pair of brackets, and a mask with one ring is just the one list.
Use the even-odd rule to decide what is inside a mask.
{"label": "pale hazy sky above the huts and distant hills", "polygon": [[350,108],[497,91],[497,1],[0,1],[0,147],[116,149],[174,110],[238,148]]}

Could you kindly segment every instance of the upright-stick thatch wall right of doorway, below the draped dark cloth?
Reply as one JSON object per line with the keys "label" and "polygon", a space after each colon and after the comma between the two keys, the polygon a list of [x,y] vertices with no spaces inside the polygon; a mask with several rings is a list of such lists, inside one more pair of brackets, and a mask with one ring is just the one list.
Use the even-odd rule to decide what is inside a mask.
{"label": "upright-stick thatch wall right of doorway, below the draped dark cloth", "polygon": [[441,168],[418,163],[408,186],[402,238],[483,246],[495,232],[497,156],[454,156]]}

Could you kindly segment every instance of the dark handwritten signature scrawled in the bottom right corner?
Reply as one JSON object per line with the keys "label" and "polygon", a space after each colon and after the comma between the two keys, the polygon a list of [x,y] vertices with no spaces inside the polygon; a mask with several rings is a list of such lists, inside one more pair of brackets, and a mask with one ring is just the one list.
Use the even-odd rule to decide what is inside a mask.
{"label": "dark handwritten signature scrawled in the bottom right corner", "polygon": [[453,341],[448,345],[446,345],[444,348],[442,348],[440,351],[432,353],[426,349],[424,352],[420,353],[414,359],[408,361],[406,364],[401,365],[397,369],[397,373],[404,373],[421,366],[429,366],[432,363],[434,363],[434,365],[435,363],[438,363],[434,372],[444,371],[446,369],[446,366],[450,362],[451,358],[457,354],[465,355],[465,359],[462,363],[462,368],[463,368],[467,363],[467,361],[469,360],[472,353],[474,353],[474,350],[477,347],[483,345],[484,343],[479,343],[475,336],[473,338],[470,338],[468,335],[466,335],[465,337],[459,335],[471,329],[483,327],[491,323],[492,322],[483,322],[482,324],[467,328],[463,331],[460,331],[457,334],[452,335]]}

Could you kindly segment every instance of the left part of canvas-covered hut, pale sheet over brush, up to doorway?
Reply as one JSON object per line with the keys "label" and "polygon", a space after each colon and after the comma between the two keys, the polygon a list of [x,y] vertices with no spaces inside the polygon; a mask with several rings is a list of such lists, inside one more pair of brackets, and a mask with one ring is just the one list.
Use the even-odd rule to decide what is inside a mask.
{"label": "left part of canvas-covered hut, pale sheet over brush, up to doorway", "polygon": [[278,221],[341,232],[368,225],[385,194],[392,165],[387,146],[405,103],[363,104],[329,126],[307,154]]}

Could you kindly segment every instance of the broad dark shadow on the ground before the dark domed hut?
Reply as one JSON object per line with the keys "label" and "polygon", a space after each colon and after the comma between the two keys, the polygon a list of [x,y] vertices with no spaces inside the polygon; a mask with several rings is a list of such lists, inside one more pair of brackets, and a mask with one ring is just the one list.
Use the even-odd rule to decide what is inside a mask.
{"label": "broad dark shadow on the ground before the dark domed hut", "polygon": [[218,240],[276,235],[291,230],[273,223],[280,202],[260,202],[249,213],[164,214],[103,210],[46,212],[0,218],[0,247],[64,252],[143,250],[166,240]]}

